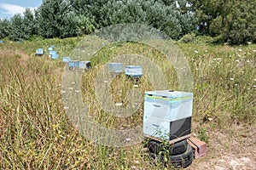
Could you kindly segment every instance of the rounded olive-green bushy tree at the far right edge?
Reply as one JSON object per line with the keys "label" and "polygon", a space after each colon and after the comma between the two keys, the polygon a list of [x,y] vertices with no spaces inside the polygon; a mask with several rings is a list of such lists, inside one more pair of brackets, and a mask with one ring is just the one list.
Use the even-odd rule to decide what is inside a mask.
{"label": "rounded olive-green bushy tree at the far right edge", "polygon": [[239,1],[230,6],[229,14],[218,15],[209,27],[218,41],[241,44],[256,42],[256,1]]}

